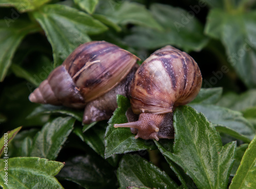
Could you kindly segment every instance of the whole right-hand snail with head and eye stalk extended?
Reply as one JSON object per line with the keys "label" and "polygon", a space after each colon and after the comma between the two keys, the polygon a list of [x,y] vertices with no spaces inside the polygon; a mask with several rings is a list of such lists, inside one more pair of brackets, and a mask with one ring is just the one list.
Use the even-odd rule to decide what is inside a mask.
{"label": "whole right-hand snail with head and eye stalk extended", "polygon": [[154,52],[138,68],[129,98],[139,120],[114,127],[130,127],[135,138],[174,138],[173,111],[196,98],[202,85],[193,58],[170,45]]}

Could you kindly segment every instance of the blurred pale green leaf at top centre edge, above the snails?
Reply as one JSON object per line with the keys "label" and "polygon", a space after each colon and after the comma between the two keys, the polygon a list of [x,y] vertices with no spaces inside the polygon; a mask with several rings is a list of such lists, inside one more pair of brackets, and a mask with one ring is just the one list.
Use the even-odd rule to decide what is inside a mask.
{"label": "blurred pale green leaf at top centre edge, above the snails", "polygon": [[162,30],[159,23],[153,18],[150,11],[144,5],[130,1],[114,2],[112,0],[102,1],[96,10],[97,14],[105,15],[112,22],[119,25],[134,25]]}

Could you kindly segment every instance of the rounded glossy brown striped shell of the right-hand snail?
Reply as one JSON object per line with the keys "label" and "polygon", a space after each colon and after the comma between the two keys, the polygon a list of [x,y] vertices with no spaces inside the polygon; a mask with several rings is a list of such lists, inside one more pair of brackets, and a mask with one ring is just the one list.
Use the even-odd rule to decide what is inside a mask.
{"label": "rounded glossy brown striped shell of the right-hand snail", "polygon": [[193,58],[172,46],[148,57],[137,70],[130,97],[134,113],[168,113],[196,98],[202,85]]}

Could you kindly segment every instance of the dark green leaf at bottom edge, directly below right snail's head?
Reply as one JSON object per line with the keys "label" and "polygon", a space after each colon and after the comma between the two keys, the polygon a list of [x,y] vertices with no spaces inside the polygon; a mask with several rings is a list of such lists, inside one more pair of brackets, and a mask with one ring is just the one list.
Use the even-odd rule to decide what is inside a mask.
{"label": "dark green leaf at bottom edge, directly below right snail's head", "polygon": [[150,188],[177,188],[178,185],[153,163],[139,155],[125,155],[117,170],[120,188],[147,186]]}

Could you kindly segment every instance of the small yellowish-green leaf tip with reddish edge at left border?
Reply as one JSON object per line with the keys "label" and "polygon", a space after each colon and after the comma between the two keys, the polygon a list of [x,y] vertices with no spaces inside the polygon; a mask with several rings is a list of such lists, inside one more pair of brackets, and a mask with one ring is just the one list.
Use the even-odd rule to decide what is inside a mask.
{"label": "small yellowish-green leaf tip with reddish edge at left border", "polygon": [[[19,132],[19,130],[22,129],[22,127],[18,127],[16,129],[13,129],[11,131],[8,131],[6,133],[4,133],[4,135],[0,138],[0,156],[2,156],[2,154],[4,152],[5,153],[4,156],[8,157],[8,146],[10,145],[11,141],[13,140],[14,136]],[[4,151],[4,149],[6,149]]]}

